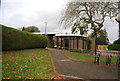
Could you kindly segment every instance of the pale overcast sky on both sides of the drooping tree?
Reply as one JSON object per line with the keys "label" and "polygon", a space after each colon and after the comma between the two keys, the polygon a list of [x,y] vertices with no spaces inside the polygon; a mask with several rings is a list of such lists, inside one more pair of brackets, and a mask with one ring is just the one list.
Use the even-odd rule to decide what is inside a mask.
{"label": "pale overcast sky on both sides of the drooping tree", "polygon": [[[2,0],[0,8],[0,24],[20,29],[23,26],[36,26],[41,32],[70,32],[63,29],[59,19],[68,0]],[[113,19],[114,20],[114,19]],[[118,23],[106,19],[104,27],[112,43],[118,39]]]}

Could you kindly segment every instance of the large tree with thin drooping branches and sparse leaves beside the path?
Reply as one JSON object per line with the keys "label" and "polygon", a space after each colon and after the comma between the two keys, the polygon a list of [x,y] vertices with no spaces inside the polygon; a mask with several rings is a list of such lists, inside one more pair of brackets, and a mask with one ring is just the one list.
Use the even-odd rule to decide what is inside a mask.
{"label": "large tree with thin drooping branches and sparse leaves beside the path", "polygon": [[[118,3],[113,2],[70,2],[61,17],[61,23],[72,25],[72,31],[86,33],[91,30],[92,53],[96,54],[96,35],[103,27],[106,17],[113,18],[118,14]],[[75,26],[77,23],[77,26]],[[75,26],[75,27],[74,27]],[[86,30],[86,31],[84,31]]]}

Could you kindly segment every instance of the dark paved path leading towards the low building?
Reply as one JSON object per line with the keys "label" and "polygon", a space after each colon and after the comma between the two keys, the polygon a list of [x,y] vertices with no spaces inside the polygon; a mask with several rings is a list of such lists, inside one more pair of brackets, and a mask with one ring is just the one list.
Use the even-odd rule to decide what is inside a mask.
{"label": "dark paved path leading towards the low building", "polygon": [[61,54],[60,50],[49,49],[58,73],[84,79],[117,79],[111,71],[117,68],[92,63],[72,61]]}

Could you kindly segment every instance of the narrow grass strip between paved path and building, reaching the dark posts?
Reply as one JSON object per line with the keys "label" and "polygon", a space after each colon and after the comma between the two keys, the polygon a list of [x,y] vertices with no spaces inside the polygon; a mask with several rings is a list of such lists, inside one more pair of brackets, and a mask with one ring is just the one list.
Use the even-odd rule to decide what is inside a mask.
{"label": "narrow grass strip between paved path and building, reaching the dark posts", "polygon": [[[94,62],[94,56],[90,54],[83,54],[83,53],[76,53],[76,52],[69,52],[69,51],[63,51],[62,53],[74,60]],[[101,55],[100,62],[106,63],[106,56]],[[112,64],[116,64],[116,62],[117,62],[117,56],[113,56]]]}

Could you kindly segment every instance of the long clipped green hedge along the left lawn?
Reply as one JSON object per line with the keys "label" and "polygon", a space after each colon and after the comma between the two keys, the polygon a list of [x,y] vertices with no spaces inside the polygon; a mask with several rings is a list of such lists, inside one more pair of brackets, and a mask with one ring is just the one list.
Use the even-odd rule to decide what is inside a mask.
{"label": "long clipped green hedge along the left lawn", "polygon": [[48,39],[42,35],[20,31],[14,28],[2,27],[2,50],[20,50],[27,48],[45,48]]}

